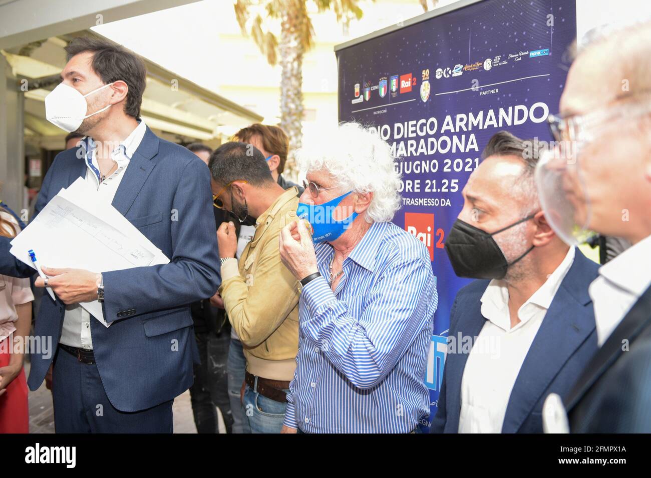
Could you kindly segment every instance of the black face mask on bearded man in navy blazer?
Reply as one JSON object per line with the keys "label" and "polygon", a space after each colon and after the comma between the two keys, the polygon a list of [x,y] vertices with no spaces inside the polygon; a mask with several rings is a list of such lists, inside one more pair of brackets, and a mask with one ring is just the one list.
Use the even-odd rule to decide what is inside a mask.
{"label": "black face mask on bearded man in navy blazer", "polygon": [[493,239],[493,235],[506,231],[533,217],[534,214],[490,234],[457,219],[445,241],[445,252],[450,258],[454,273],[459,277],[471,279],[504,278],[508,267],[529,254],[534,246],[531,246],[527,252],[509,264],[495,239]]}

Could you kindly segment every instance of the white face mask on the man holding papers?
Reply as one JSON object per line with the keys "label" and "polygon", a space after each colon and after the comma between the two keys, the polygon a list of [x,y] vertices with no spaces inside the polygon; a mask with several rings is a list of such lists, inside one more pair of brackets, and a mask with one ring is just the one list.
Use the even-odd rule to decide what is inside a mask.
{"label": "white face mask on the man holding papers", "polygon": [[87,96],[111,85],[113,85],[113,83],[100,86],[96,90],[92,90],[90,93],[81,94],[72,86],[59,83],[59,85],[45,97],[45,116],[47,120],[51,124],[59,126],[64,131],[68,131],[68,133],[76,131],[77,128],[81,126],[83,120],[90,118],[93,114],[102,113],[102,111],[106,111],[111,107],[109,104],[95,113],[86,114],[88,105],[85,100]]}

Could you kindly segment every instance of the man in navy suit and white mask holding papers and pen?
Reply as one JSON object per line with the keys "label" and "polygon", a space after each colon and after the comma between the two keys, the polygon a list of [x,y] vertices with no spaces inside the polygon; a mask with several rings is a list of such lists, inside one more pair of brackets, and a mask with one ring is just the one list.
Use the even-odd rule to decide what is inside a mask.
{"label": "man in navy suit and white mask holding papers and pen", "polygon": [[[55,354],[33,351],[29,388],[40,386],[54,361],[57,432],[171,432],[174,397],[191,386],[199,358],[189,304],[211,297],[219,284],[210,174],[196,155],[159,139],[140,119],[141,59],[92,38],[76,38],[66,52],[46,115],[86,138],[57,155],[35,214],[85,178],[94,191],[89,200],[112,204],[170,262],[102,274],[45,264],[57,300],[43,295],[35,336],[51,340]],[[9,248],[0,237],[0,273],[31,276]],[[109,327],[79,306],[91,300],[103,300]]]}

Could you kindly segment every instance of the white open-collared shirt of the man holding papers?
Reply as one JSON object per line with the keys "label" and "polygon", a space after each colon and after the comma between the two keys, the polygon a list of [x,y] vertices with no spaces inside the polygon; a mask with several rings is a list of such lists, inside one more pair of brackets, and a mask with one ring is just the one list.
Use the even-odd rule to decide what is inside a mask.
{"label": "white open-collared shirt of the man holding papers", "polygon": [[[107,204],[113,202],[120,181],[124,177],[124,170],[126,170],[133,153],[143,140],[145,131],[145,122],[139,122],[131,134],[113,150],[111,158],[117,163],[117,170],[101,183],[100,166],[95,155],[95,150],[92,148],[93,141],[89,139],[91,146],[85,159],[87,166],[86,181],[97,191],[97,197],[100,201]],[[59,343],[70,345],[70,347],[78,347],[79,349],[92,349],[90,314],[79,304],[66,305]]]}

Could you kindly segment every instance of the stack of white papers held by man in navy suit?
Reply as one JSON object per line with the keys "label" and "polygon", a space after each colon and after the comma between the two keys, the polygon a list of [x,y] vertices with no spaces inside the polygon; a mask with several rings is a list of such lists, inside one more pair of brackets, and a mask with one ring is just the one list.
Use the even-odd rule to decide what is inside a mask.
{"label": "stack of white papers held by man in navy suit", "polygon": [[[97,200],[85,179],[61,189],[29,225],[11,241],[11,254],[35,269],[29,253],[34,250],[41,266],[120,271],[132,267],[169,263],[115,207]],[[47,289],[55,299],[51,289]],[[80,304],[105,326],[102,304]]]}

